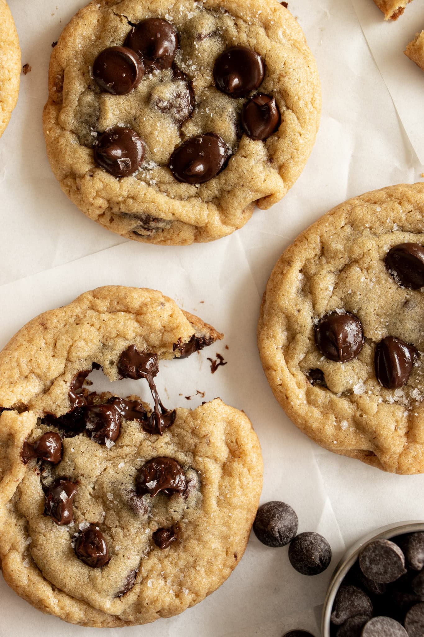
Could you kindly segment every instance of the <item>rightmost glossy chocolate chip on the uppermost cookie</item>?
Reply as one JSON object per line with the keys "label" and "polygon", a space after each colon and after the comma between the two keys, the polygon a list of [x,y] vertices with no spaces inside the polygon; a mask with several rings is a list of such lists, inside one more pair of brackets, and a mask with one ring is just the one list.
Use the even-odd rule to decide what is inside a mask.
{"label": "rightmost glossy chocolate chip on the uppermost cookie", "polygon": [[243,106],[242,126],[252,140],[264,141],[277,131],[281,117],[274,97],[259,93]]}

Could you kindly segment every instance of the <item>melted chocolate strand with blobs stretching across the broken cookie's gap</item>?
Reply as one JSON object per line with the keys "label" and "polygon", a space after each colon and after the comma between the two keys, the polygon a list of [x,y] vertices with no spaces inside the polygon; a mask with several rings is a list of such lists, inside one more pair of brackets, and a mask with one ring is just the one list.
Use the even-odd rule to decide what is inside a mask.
{"label": "melted chocolate strand with blobs stretching across the broken cookie's gap", "polygon": [[149,419],[144,422],[143,429],[147,433],[161,436],[165,429],[174,424],[177,413],[163,406],[154,384],[154,376],[159,371],[158,356],[149,352],[139,352],[135,345],[130,345],[120,356],[118,371],[123,378],[133,378],[133,380],[145,378],[149,383],[154,399],[154,409]]}

